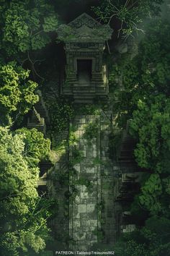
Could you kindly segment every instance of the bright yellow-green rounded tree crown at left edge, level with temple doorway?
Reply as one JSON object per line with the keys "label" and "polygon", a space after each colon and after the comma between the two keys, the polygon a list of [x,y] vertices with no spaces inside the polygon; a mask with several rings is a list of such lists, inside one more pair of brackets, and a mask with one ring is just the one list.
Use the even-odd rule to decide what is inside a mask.
{"label": "bright yellow-green rounded tree crown at left edge, level with temple doorway", "polygon": [[38,95],[35,95],[37,83],[29,80],[29,73],[14,62],[0,66],[1,123],[7,116],[16,118],[26,114],[38,101]]}

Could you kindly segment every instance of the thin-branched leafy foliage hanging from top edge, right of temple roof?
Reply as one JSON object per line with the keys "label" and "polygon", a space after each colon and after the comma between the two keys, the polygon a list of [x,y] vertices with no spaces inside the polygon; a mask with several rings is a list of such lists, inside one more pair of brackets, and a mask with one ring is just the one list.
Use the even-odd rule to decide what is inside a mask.
{"label": "thin-branched leafy foliage hanging from top edge, right of temple roof", "polygon": [[148,16],[154,16],[160,12],[160,4],[163,0],[144,0],[144,1],[125,1],[125,0],[107,0],[100,1],[98,7],[93,7],[95,14],[100,20],[110,23],[112,18],[116,18],[120,22],[120,31],[122,35],[127,37],[133,32],[143,31],[138,25]]}

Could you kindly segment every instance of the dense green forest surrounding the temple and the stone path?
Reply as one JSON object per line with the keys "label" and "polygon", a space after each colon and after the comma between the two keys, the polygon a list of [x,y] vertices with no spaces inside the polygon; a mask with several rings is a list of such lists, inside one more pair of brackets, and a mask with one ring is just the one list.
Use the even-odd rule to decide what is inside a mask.
{"label": "dense green forest surrounding the temple and the stone path", "polygon": [[[168,8],[163,0],[0,0],[1,256],[48,255],[47,250],[58,249],[50,223],[60,202],[38,191],[40,163],[55,165],[55,156],[67,147],[63,131],[80,111],[95,115],[110,106],[119,130],[110,135],[110,158],[128,123],[135,141],[133,157],[143,178],[128,209],[136,229],[102,251],[112,248],[117,256],[170,255]],[[61,95],[66,56],[59,29],[83,12],[112,27],[113,33],[104,51],[107,98],[77,107],[71,96]],[[27,127],[41,97],[50,120],[45,133]],[[94,132],[95,127],[89,127],[86,136],[90,139]],[[74,140],[70,135],[69,143]],[[55,179],[66,184],[67,176],[58,174]]]}

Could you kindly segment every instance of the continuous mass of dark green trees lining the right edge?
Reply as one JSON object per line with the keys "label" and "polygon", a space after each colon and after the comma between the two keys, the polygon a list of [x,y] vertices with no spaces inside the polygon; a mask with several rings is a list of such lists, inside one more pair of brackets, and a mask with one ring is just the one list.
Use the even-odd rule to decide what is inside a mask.
{"label": "continuous mass of dark green trees lining the right edge", "polygon": [[[125,56],[109,74],[110,85],[114,84],[113,98],[118,100],[113,103],[119,116],[117,121],[120,127],[125,127],[130,119],[130,134],[136,140],[135,161],[146,171],[130,210],[132,214],[133,210],[140,210],[148,219],[143,228],[139,226],[122,241],[124,255],[155,256],[170,252],[169,28],[167,20],[151,22],[137,56],[133,59]],[[122,82],[122,91],[117,77]]]}

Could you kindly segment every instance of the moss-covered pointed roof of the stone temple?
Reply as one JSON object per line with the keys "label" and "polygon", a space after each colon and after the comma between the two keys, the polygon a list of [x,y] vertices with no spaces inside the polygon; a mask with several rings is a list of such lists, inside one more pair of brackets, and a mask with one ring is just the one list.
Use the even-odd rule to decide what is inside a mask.
{"label": "moss-covered pointed roof of the stone temple", "polygon": [[108,40],[111,36],[112,29],[109,25],[102,25],[86,13],[58,28],[58,38],[64,42],[97,42]]}

